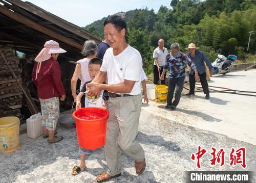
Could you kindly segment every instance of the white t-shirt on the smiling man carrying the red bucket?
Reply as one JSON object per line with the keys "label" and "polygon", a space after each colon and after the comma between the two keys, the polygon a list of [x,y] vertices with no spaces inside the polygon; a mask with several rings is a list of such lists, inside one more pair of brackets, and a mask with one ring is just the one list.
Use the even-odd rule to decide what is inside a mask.
{"label": "white t-shirt on the smiling man carrying the red bucket", "polygon": [[[124,80],[135,81],[130,95],[140,94],[142,58],[138,50],[128,45],[122,53],[113,55],[113,48],[106,50],[100,70],[108,75],[108,84],[121,83]],[[121,94],[121,93],[118,93]]]}

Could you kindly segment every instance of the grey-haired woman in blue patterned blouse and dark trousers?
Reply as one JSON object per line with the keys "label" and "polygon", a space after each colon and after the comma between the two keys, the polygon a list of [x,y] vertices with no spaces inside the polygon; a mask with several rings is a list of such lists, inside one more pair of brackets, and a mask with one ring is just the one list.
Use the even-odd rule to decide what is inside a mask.
{"label": "grey-haired woman in blue patterned blouse and dark trousers", "polygon": [[[199,76],[196,69],[196,65],[187,57],[186,54],[180,52],[180,45],[178,43],[173,43],[170,46],[171,52],[166,56],[165,65],[163,67],[162,75],[160,80],[163,80],[164,73],[169,69],[169,80],[168,80],[168,95],[167,95],[167,105],[165,109],[175,110],[180,101],[181,92],[183,90],[183,84],[185,80],[185,66],[189,65],[191,69],[194,69],[196,81],[198,81]],[[175,99],[174,91],[175,88]]]}

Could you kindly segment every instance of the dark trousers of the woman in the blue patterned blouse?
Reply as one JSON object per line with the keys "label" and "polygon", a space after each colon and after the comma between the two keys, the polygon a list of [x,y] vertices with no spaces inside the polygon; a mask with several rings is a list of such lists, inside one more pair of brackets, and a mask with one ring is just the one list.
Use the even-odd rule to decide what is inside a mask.
{"label": "dark trousers of the woman in the blue patterned blouse", "polygon": [[[177,78],[169,78],[168,81],[168,95],[167,95],[167,105],[168,106],[178,106],[180,102],[181,92],[183,90],[185,76],[177,77]],[[176,88],[177,87],[177,88]],[[175,91],[175,99],[174,97],[174,90]]]}

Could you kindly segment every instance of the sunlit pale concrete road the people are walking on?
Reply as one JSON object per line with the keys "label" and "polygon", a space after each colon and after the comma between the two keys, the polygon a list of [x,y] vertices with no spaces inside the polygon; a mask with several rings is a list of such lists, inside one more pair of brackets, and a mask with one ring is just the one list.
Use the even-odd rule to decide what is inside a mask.
{"label": "sunlit pale concrete road the people are walking on", "polygon": [[[232,72],[211,77],[210,86],[256,91],[256,70]],[[186,91],[184,91],[186,92]],[[185,182],[186,170],[256,170],[256,97],[212,93],[209,100],[202,93],[195,98],[182,96],[176,111],[150,101],[141,110],[136,141],[145,150],[147,167],[135,173],[134,162],[125,154],[122,176],[109,182]],[[20,148],[0,154],[0,182],[96,182],[106,169],[104,153],[88,156],[87,170],[73,176],[70,170],[79,162],[75,129],[58,128],[65,139],[48,144],[46,139],[20,136]],[[191,160],[198,146],[206,150],[197,162]],[[211,148],[225,151],[223,166],[210,165]],[[230,151],[246,148],[246,168],[230,166]],[[256,182],[254,175],[253,181]]]}

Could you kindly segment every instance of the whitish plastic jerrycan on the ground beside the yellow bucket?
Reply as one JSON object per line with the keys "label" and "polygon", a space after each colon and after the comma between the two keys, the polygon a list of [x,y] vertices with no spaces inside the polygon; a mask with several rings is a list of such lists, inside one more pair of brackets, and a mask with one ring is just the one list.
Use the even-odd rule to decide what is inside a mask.
{"label": "whitish plastic jerrycan on the ground beside the yellow bucket", "polygon": [[36,139],[42,135],[42,115],[41,113],[34,114],[27,119],[27,136],[31,139]]}

